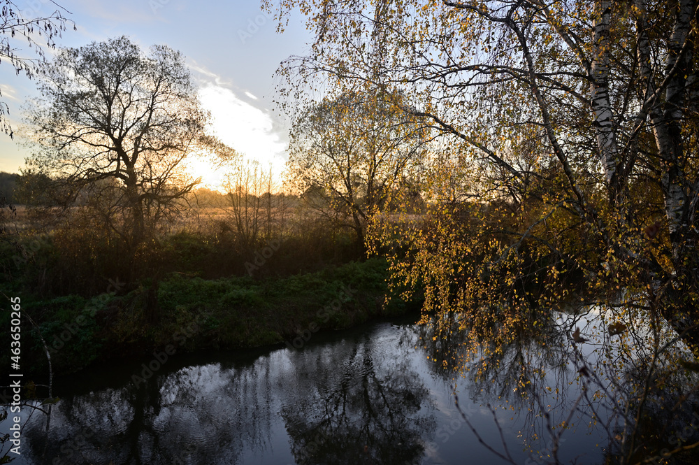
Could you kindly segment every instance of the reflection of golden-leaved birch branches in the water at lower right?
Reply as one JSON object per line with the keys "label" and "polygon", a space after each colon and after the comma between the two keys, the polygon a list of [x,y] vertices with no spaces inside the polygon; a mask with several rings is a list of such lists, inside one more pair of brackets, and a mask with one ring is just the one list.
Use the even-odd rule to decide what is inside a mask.
{"label": "reflection of golden-leaved birch branches in the water at lower right", "polygon": [[[617,334],[613,309],[578,310],[496,340],[456,320],[419,331],[433,373],[488,406],[498,429],[503,420],[524,425],[533,463],[663,462],[663,453],[699,441],[699,377],[677,370],[678,358],[691,359],[682,343],[641,319]],[[565,455],[563,443],[579,434],[598,437],[603,455]],[[484,442],[515,462],[504,438]]]}

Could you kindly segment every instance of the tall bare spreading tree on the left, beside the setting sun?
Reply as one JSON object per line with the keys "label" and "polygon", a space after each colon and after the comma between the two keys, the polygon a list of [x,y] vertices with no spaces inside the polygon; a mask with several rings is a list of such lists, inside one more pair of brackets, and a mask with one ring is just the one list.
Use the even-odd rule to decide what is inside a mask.
{"label": "tall bare spreading tree on the left, beside the setting sun", "polygon": [[40,150],[28,166],[66,180],[69,201],[99,199],[132,250],[198,182],[183,170],[188,153],[222,152],[204,135],[208,113],[182,55],[164,45],[146,54],[122,36],[65,48],[40,83],[27,116]]}

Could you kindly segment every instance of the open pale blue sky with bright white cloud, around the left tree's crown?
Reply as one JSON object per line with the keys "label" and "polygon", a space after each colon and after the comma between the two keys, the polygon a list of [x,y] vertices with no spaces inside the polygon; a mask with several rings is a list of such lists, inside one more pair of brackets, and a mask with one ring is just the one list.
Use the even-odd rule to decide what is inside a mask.
{"label": "open pale blue sky with bright white cloud, around the left tree's crown", "polygon": [[[50,0],[15,0],[23,12],[50,15]],[[310,33],[301,16],[291,17],[283,34],[273,17],[255,0],[58,0],[77,31],[69,29],[57,45],[80,47],[92,41],[127,35],[142,48],[164,44],[186,57],[199,86],[203,108],[212,113],[212,131],[224,143],[272,164],[279,174],[286,161],[288,122],[273,105],[274,73],[290,55],[308,50]],[[21,45],[21,42],[20,42]],[[31,56],[30,52],[27,52]],[[22,122],[22,103],[38,95],[36,82],[15,76],[0,63],[0,101],[10,107],[13,129]],[[18,172],[31,148],[22,138],[0,134],[0,171]],[[203,168],[200,168],[203,169]],[[212,178],[211,173],[205,176]]]}

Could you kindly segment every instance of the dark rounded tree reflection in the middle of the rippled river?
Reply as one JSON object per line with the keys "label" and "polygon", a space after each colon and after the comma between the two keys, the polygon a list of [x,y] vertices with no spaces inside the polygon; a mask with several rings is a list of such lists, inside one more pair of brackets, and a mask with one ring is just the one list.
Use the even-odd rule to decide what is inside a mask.
{"label": "dark rounded tree reflection in the middle of the rippled river", "polygon": [[421,463],[436,423],[408,359],[365,339],[296,352],[291,362],[298,373],[313,373],[290,387],[295,401],[282,409],[297,464]]}

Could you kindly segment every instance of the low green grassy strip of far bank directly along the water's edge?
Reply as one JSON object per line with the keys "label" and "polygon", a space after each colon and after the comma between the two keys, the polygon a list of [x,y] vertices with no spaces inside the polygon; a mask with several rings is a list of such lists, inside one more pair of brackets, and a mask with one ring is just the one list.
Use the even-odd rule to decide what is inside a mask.
{"label": "low green grassy strip of far bank directly along the water's edge", "polygon": [[206,280],[171,273],[123,295],[113,291],[90,299],[69,295],[50,300],[24,296],[22,309],[36,323],[23,329],[24,366],[36,375],[45,374],[47,350],[54,373],[66,374],[154,351],[275,343],[300,348],[319,331],[418,313],[419,301],[394,299],[384,304],[386,278],[386,262],[374,258],[266,280]]}

